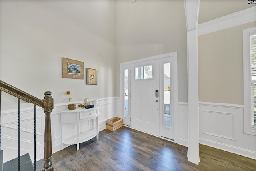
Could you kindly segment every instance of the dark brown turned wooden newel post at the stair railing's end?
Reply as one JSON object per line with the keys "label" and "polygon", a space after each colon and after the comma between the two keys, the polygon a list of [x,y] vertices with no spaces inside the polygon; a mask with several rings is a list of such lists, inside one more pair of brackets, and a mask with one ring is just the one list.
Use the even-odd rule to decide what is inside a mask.
{"label": "dark brown turned wooden newel post at the stair railing's end", "polygon": [[51,112],[53,109],[52,93],[47,91],[44,93],[44,113],[45,113],[45,127],[44,127],[44,168],[42,171],[53,171],[52,167],[52,131],[51,131]]}

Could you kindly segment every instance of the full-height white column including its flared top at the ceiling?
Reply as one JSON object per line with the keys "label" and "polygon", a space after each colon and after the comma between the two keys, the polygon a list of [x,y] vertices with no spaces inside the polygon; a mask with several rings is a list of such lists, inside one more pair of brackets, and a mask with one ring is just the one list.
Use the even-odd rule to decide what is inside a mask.
{"label": "full-height white column including its flared top at the ceiling", "polygon": [[197,25],[199,0],[184,0],[188,44],[188,161],[199,163]]}

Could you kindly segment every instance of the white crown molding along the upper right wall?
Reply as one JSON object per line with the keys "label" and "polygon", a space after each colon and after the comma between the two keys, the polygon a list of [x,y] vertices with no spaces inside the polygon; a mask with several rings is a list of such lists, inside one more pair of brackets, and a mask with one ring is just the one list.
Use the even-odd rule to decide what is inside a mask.
{"label": "white crown molding along the upper right wall", "polygon": [[256,21],[256,6],[198,24],[198,36]]}

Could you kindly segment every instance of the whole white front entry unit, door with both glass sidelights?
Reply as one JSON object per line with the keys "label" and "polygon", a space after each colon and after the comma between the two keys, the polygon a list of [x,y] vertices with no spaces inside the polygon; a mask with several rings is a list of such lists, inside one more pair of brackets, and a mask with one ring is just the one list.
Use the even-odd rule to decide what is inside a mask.
{"label": "whole white front entry unit, door with both glass sidelights", "polygon": [[177,52],[120,64],[120,96],[124,125],[177,142]]}

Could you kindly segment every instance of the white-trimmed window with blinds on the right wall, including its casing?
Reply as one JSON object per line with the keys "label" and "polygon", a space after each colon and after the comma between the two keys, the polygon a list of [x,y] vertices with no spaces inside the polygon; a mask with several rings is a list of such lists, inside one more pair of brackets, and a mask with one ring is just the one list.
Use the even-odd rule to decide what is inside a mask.
{"label": "white-trimmed window with blinds on the right wall, including its casing", "polygon": [[244,133],[256,136],[256,27],[242,30]]}

